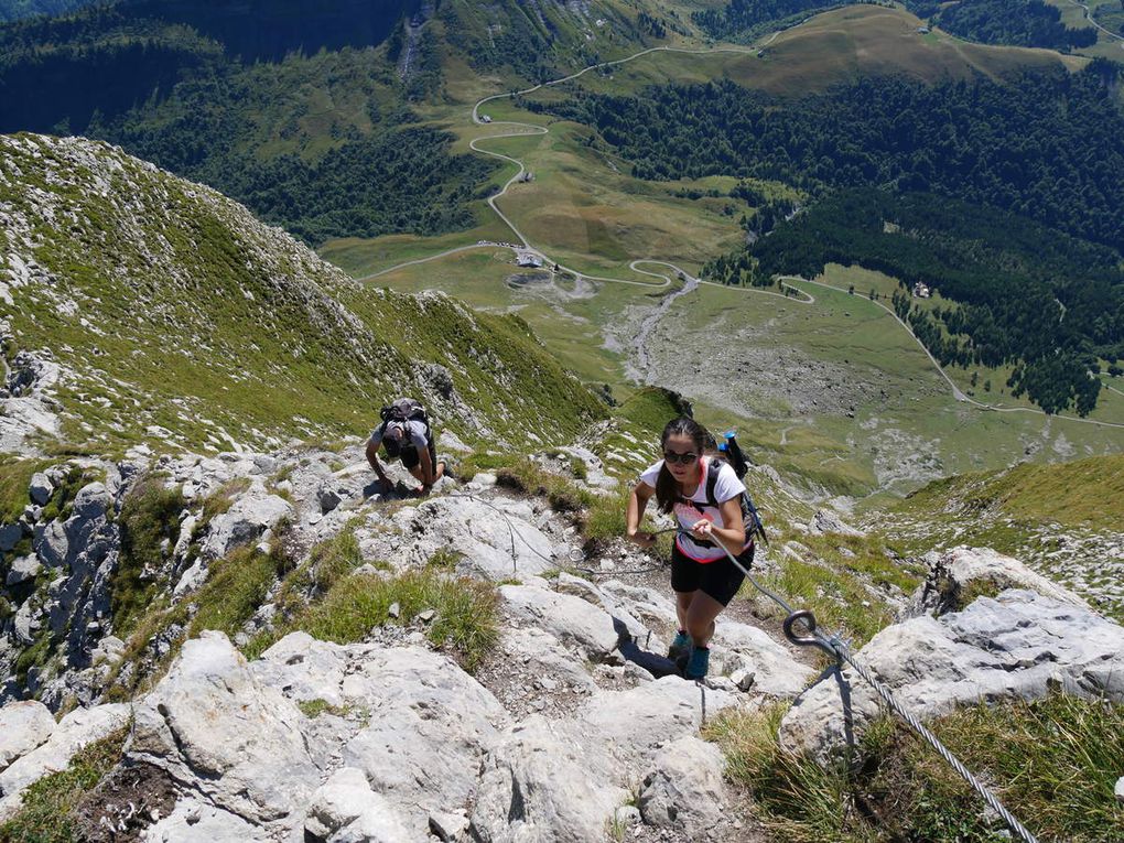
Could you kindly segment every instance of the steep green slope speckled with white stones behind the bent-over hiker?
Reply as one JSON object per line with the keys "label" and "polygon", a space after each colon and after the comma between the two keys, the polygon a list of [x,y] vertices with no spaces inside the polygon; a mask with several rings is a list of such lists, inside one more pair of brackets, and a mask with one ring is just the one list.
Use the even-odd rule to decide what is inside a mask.
{"label": "steep green slope speckled with white stones behind the bent-over hiker", "polygon": [[235,202],[105,144],[22,135],[0,153],[8,388],[61,404],[65,442],[356,434],[410,392],[468,436],[556,438],[602,413],[515,317],[361,289]]}

